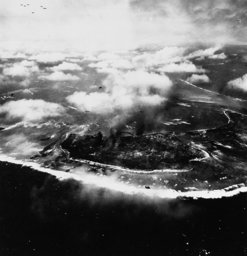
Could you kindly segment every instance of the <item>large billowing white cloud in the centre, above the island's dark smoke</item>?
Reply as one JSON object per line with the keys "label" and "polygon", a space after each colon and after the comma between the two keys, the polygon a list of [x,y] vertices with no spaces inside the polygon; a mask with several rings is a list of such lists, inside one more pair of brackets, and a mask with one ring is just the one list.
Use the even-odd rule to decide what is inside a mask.
{"label": "large billowing white cloud in the centre, above the island's dark smoke", "polygon": [[80,111],[114,113],[133,109],[142,104],[160,105],[166,100],[165,94],[172,86],[167,76],[144,70],[123,72],[106,68],[104,71],[108,72],[107,78],[103,81],[106,92],[75,92],[66,98],[68,102]]}

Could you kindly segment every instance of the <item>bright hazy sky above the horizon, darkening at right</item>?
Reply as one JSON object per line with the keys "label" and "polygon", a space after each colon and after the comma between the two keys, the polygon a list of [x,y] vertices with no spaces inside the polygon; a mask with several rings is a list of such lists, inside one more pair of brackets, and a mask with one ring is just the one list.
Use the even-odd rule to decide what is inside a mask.
{"label": "bright hazy sky above the horizon, darkening at right", "polygon": [[0,7],[0,44],[8,49],[130,50],[247,39],[245,0],[1,0]]}

